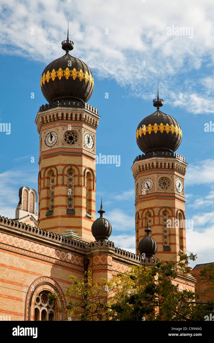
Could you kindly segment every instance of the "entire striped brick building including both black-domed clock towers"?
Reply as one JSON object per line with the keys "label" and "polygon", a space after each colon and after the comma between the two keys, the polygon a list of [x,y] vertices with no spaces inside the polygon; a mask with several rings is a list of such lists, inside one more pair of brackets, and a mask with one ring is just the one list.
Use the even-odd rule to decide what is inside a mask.
{"label": "entire striped brick building including both black-domed clock towers", "polygon": [[[88,270],[96,283],[128,271],[132,265],[154,265],[155,253],[163,261],[176,261],[185,251],[187,163],[184,157],[174,155],[182,132],[175,119],[159,110],[163,102],[159,96],[154,100],[157,111],[139,124],[136,133],[137,144],[145,153],[132,166],[136,254],[118,249],[108,240],[112,228],[103,218],[102,203],[100,218],[95,220],[100,117],[97,109],[87,104],[93,75],[84,62],[69,54],[73,47],[67,37],[62,42],[65,55],[48,64],[41,76],[48,104],[40,107],[35,120],[40,145],[38,214],[36,191],[25,186],[19,191],[15,218],[0,217],[1,318],[67,320],[64,294],[69,275],[81,280]],[[181,226],[174,225],[173,219],[181,221]],[[174,226],[170,227],[170,220]],[[152,251],[147,241],[153,245]],[[190,274],[178,276],[174,282],[180,289],[194,291],[195,279]],[[59,297],[50,302],[48,293]]]}

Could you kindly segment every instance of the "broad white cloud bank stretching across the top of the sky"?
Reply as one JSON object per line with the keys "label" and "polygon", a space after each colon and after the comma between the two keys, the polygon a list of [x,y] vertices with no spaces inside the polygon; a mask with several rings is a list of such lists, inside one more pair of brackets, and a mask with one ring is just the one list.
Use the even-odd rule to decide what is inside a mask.
{"label": "broad white cloud bank stretching across the top of the sky", "polygon": [[[72,54],[99,78],[114,79],[131,87],[132,94],[150,100],[156,96],[158,76],[165,102],[194,114],[214,113],[210,0],[195,0],[194,6],[185,0],[173,4],[166,0],[161,5],[158,0],[135,1],[134,6],[129,0],[1,0],[0,13],[1,53],[49,63],[62,55],[60,42],[66,38],[69,20],[70,39],[75,43]],[[167,27],[172,25],[193,27],[193,38],[167,36]],[[209,75],[203,74],[195,82],[192,71],[204,65],[210,68]]]}

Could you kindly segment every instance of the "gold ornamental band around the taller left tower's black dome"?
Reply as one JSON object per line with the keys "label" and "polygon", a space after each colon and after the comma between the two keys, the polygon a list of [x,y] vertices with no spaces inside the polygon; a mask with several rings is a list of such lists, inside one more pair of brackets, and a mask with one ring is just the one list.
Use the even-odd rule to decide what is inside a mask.
{"label": "gold ornamental band around the taller left tower's black dome", "polygon": [[76,78],[79,78],[79,81],[85,80],[85,83],[89,82],[89,85],[92,84],[92,87],[94,87],[93,76],[91,74],[88,74],[87,71],[84,73],[82,69],[77,71],[76,68],[72,70],[70,70],[69,68],[66,68],[65,70],[59,68],[59,70],[53,69],[52,72],[49,72],[48,70],[46,74],[44,73],[41,76],[41,80],[40,80],[41,88],[42,88],[42,84],[43,85],[45,84],[45,81],[48,83],[50,79],[52,79],[52,81],[54,81],[56,78],[61,80],[61,78],[63,77],[65,77],[66,80],[68,80],[68,78],[70,77],[73,78],[73,80],[75,80]]}

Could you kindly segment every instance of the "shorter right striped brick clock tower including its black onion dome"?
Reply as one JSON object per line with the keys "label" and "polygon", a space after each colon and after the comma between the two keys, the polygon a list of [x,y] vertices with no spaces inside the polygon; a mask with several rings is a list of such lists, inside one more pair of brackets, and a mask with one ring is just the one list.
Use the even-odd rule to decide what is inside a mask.
{"label": "shorter right striped brick clock tower including its black onion dome", "polygon": [[157,242],[157,258],[162,261],[179,260],[179,252],[186,250],[185,241],[185,158],[174,155],[181,143],[179,123],[162,113],[163,99],[153,100],[157,111],[144,118],[136,132],[137,144],[144,152],[135,158],[132,166],[135,179],[136,253],[151,229]]}

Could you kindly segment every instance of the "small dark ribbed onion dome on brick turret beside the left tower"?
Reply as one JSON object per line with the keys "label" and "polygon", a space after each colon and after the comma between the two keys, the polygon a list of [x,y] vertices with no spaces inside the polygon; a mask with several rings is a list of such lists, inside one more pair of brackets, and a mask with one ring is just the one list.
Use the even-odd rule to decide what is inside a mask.
{"label": "small dark ribbed onion dome on brick turret beside the left tower", "polygon": [[111,235],[112,227],[109,221],[103,218],[103,213],[105,213],[105,211],[103,210],[102,199],[100,210],[98,211],[98,213],[100,213],[100,218],[97,218],[91,226],[92,235],[94,236],[97,242],[99,240],[101,242],[103,240],[107,241]]}

